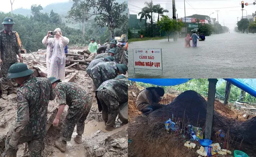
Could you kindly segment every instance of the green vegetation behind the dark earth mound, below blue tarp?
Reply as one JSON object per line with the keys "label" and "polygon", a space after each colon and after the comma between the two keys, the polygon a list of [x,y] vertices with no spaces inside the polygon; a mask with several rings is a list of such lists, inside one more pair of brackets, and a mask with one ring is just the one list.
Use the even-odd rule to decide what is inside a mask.
{"label": "green vegetation behind the dark earth mound, below blue tarp", "polygon": [[[225,96],[225,89],[226,89],[226,81],[218,79],[218,83],[216,86],[216,97],[222,99]],[[147,83],[141,83],[136,82],[136,84],[142,88],[148,88],[148,87],[162,87],[164,88],[166,93],[169,93],[170,91],[176,90],[178,92],[184,92],[187,90],[194,90],[197,93],[203,95],[204,97],[208,97],[208,85],[209,81],[208,79],[192,79],[189,82],[177,85],[177,86],[155,86]],[[256,102],[256,98],[246,92],[242,92],[244,97],[240,99],[241,89],[237,88],[236,86],[231,86],[231,91],[229,95],[229,101],[245,101],[245,102]]]}

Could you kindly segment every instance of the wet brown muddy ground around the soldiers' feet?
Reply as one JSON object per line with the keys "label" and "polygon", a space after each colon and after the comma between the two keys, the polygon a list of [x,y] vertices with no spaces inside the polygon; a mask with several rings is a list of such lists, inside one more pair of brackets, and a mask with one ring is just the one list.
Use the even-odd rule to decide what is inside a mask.
{"label": "wet brown muddy ground around the soldiers' feet", "polygon": [[[69,49],[69,52],[75,53],[80,50]],[[45,50],[39,50],[36,54],[44,54]],[[44,55],[40,55],[44,56]],[[36,56],[37,57],[37,56]],[[43,58],[43,57],[41,57]],[[45,59],[45,58],[44,58]],[[120,126],[121,123],[116,122],[119,128],[114,131],[106,131],[105,124],[102,120],[101,113],[98,111],[95,93],[92,92],[93,82],[87,75],[86,71],[79,70],[76,75],[75,83],[81,85],[89,95],[93,98],[93,106],[85,121],[85,130],[82,137],[82,144],[76,144],[73,138],[76,136],[76,128],[72,135],[72,140],[67,142],[67,151],[62,153],[54,146],[54,141],[58,140],[62,133],[63,120],[67,115],[66,106],[64,113],[61,116],[60,126],[50,126],[45,140],[45,150],[43,157],[127,157],[128,156],[128,125]],[[48,119],[56,112],[58,107],[57,100],[50,101],[48,106]],[[5,155],[4,140],[9,128],[13,125],[16,118],[16,101],[15,100],[2,100],[0,101],[0,155]],[[49,120],[51,121],[51,120]],[[24,154],[25,144],[19,145],[17,157],[26,157]]]}

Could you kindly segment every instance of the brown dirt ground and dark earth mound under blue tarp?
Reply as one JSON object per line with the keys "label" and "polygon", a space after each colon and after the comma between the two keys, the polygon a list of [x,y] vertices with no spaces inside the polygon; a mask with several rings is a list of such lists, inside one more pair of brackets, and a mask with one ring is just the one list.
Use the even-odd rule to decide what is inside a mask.
{"label": "brown dirt ground and dark earth mound under blue tarp", "polygon": [[[203,127],[206,118],[206,100],[194,91],[186,91],[178,96],[178,94],[166,94],[164,97],[169,99],[166,107],[151,113],[148,118],[142,118],[136,110],[135,100],[141,89],[136,86],[129,87],[129,115],[132,115],[128,128],[128,137],[132,143],[128,144],[129,157],[198,157],[196,150],[199,149],[199,143],[195,149],[189,149],[184,146],[188,138],[181,134],[168,134],[164,127],[164,121],[168,120],[174,114],[175,119],[182,119],[185,108],[184,123],[190,122],[196,126],[199,113],[199,126]],[[165,102],[164,100],[163,102]],[[166,104],[166,103],[165,103]],[[135,110],[134,110],[135,109]],[[137,114],[138,113],[138,114]],[[256,129],[255,113],[243,117],[244,114],[249,115],[248,110],[223,105],[219,100],[215,101],[215,118],[212,140],[213,143],[219,143],[223,149],[224,139],[216,138],[217,130],[222,129],[225,133],[230,127],[230,146],[229,150],[238,150],[243,139],[241,151],[246,152],[249,157],[255,157]],[[217,123],[216,123],[217,119]],[[217,124],[217,125],[216,125]],[[229,156],[227,156],[229,157]],[[233,157],[233,156],[230,156]]]}

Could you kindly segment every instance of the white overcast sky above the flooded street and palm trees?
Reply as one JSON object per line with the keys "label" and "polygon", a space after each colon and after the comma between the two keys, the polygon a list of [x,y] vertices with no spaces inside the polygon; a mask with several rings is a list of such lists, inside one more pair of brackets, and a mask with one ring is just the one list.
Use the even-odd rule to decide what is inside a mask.
{"label": "white overcast sky above the flooded street and palm trees", "polygon": [[[150,0],[128,0],[129,14],[138,14],[141,8],[144,7],[145,1]],[[241,0],[242,1],[242,0]],[[242,7],[240,0],[185,0],[186,16],[193,14],[210,15],[211,18],[217,19],[217,12],[219,10],[219,23],[228,26],[233,30],[238,20],[242,17]],[[244,1],[244,3],[253,3],[254,0]],[[153,4],[160,4],[163,8],[167,9],[172,18],[172,0],[153,0]],[[178,13],[178,18],[184,17],[184,0],[175,0],[175,6]],[[256,5],[245,6],[248,15],[252,15],[256,11]],[[243,11],[243,16],[246,16],[246,11]],[[139,17],[138,17],[139,18]],[[157,19],[157,17],[156,17]]]}

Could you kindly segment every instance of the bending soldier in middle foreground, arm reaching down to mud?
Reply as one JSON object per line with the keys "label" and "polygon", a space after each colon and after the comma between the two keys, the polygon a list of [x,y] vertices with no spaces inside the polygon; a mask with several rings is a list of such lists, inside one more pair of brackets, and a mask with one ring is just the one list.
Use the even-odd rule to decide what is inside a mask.
{"label": "bending soldier in middle foreground, arm reaching down to mud", "polygon": [[69,107],[61,141],[55,141],[55,146],[64,152],[67,150],[67,142],[71,140],[75,125],[77,135],[74,141],[78,144],[82,143],[84,121],[92,107],[92,99],[78,84],[73,82],[61,82],[60,79],[56,79],[55,77],[49,77],[48,79],[52,83],[56,96],[59,99],[59,109],[54,119],[54,126],[59,125],[60,117],[65,106],[68,105]]}

